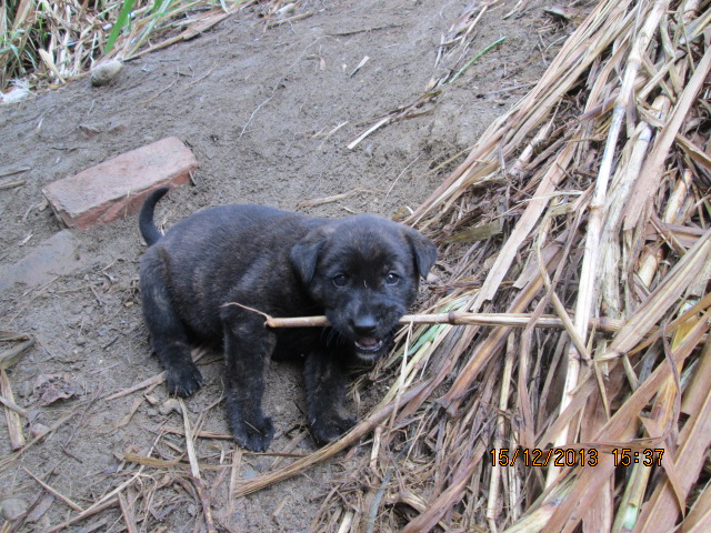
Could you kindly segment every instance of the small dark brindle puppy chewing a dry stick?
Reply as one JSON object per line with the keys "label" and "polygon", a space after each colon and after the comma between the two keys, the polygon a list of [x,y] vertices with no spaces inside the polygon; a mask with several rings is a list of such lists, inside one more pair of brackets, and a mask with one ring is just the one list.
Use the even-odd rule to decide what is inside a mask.
{"label": "small dark brindle puppy chewing a dry stick", "polygon": [[[143,314],[170,392],[202,383],[189,340],[221,342],[227,408],[237,442],[264,451],[274,434],[262,413],[272,353],[306,355],[307,411],[316,439],[328,442],[356,421],[343,416],[349,362],[374,361],[415,299],[437,250],[417,231],[371,214],[313,219],[259,205],[208,209],[164,237],[143,204],[150,245],[141,261]],[[326,314],[328,329],[270,330],[262,315]]]}

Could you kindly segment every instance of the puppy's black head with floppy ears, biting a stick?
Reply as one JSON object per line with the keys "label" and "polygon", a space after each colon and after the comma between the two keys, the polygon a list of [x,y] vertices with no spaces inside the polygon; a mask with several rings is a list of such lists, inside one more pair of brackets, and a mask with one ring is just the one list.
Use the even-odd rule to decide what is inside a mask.
{"label": "puppy's black head with floppy ears, biting a stick", "polygon": [[411,228],[360,214],[311,230],[290,259],[340,339],[359,359],[373,361],[414,302],[437,249]]}

